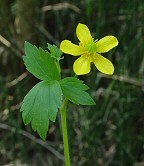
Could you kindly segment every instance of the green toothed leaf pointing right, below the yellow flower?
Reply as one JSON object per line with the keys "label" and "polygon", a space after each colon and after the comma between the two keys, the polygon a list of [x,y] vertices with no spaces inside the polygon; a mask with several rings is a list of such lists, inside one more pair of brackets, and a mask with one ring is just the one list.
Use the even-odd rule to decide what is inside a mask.
{"label": "green toothed leaf pointing right, below the yellow flower", "polygon": [[94,100],[85,92],[89,87],[77,78],[64,78],[60,81],[63,94],[75,104],[95,105]]}

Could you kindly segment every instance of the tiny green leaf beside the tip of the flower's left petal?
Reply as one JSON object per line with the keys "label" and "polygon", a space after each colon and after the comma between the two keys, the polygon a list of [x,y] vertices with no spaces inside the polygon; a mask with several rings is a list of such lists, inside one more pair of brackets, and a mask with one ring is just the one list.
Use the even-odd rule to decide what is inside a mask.
{"label": "tiny green leaf beside the tip of the flower's left petal", "polygon": [[58,61],[63,59],[63,57],[61,58],[63,52],[56,46],[56,45],[51,45],[48,43],[48,47],[47,47],[51,53],[51,57],[57,59]]}

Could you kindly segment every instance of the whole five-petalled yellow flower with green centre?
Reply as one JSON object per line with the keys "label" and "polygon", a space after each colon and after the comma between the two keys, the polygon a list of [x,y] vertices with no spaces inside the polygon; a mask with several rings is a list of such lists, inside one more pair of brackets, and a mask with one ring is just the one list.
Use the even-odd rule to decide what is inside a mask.
{"label": "whole five-petalled yellow flower with green centre", "polygon": [[76,35],[80,41],[79,45],[73,44],[69,40],[64,40],[60,44],[60,49],[74,56],[81,55],[73,65],[74,72],[77,75],[88,74],[93,62],[96,68],[104,74],[113,74],[113,64],[99,53],[105,53],[118,45],[118,40],[114,36],[106,36],[100,40],[94,40],[88,27],[84,24],[78,24]]}

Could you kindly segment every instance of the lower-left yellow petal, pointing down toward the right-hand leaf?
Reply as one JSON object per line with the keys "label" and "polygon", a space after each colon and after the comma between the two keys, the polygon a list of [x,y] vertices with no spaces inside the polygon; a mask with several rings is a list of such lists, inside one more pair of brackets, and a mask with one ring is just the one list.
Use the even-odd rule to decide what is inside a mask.
{"label": "lower-left yellow petal, pointing down toward the right-hand leaf", "polygon": [[91,69],[90,61],[83,55],[75,61],[73,68],[77,75],[88,74]]}

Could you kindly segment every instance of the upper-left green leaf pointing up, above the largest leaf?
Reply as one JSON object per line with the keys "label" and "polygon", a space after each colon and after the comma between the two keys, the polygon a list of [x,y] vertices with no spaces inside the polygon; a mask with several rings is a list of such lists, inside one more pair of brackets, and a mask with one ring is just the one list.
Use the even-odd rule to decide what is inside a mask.
{"label": "upper-left green leaf pointing up, above the largest leaf", "polygon": [[40,80],[59,80],[55,59],[45,52],[42,48],[37,48],[25,42],[25,54],[23,57],[27,70]]}

